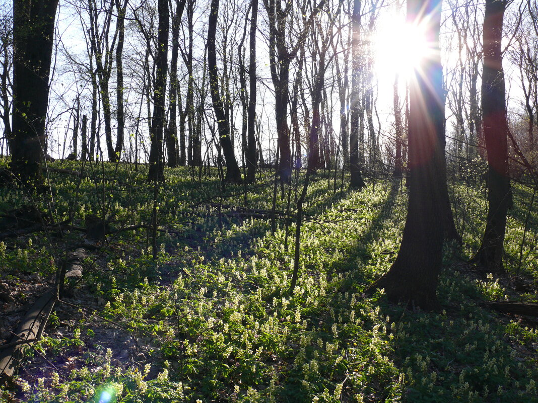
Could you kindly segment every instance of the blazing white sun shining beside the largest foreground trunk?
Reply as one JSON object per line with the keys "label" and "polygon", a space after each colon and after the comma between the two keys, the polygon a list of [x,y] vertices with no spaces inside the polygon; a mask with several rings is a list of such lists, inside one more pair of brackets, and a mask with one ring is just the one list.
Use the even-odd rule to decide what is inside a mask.
{"label": "blazing white sun shining beside the largest foreground trunk", "polygon": [[420,74],[421,64],[433,55],[435,45],[428,41],[426,27],[408,24],[401,15],[385,16],[372,37],[378,79],[391,80],[398,75],[411,80]]}

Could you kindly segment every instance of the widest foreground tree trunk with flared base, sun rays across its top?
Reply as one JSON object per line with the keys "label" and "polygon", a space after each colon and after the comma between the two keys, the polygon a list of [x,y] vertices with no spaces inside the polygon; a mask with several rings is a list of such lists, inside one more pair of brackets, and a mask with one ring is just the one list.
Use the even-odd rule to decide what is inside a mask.
{"label": "widest foreground tree trunk with flared base, sun rays across its top", "polygon": [[423,31],[431,55],[409,88],[409,202],[398,256],[388,272],[368,289],[385,289],[393,301],[437,305],[436,289],[443,251],[442,191],[446,182],[443,70],[439,50],[441,0],[407,0],[407,21]]}

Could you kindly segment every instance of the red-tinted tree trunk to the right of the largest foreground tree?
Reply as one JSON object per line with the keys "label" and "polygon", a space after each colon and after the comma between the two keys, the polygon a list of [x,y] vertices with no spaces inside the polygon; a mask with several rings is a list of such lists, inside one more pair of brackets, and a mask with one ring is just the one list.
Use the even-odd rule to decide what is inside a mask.
{"label": "red-tinted tree trunk to the right of the largest foreground tree", "polygon": [[508,177],[508,124],[506,89],[502,70],[502,20],[511,0],[486,0],[484,11],[484,67],[482,113],[487,153],[487,220],[482,244],[472,262],[487,272],[500,274],[506,215],[512,204]]}

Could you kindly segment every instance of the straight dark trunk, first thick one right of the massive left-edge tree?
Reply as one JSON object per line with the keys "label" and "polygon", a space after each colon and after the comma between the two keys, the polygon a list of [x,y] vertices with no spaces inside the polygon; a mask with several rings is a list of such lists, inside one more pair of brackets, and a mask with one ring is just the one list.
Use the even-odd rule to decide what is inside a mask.
{"label": "straight dark trunk, first thick one right of the massive left-edge tree", "polygon": [[162,127],[165,120],[166,67],[168,61],[168,2],[158,0],[159,23],[157,35],[157,57],[155,70],[157,78],[154,88],[153,114],[151,118],[150,170],[148,181],[164,181],[164,161],[162,161]]}

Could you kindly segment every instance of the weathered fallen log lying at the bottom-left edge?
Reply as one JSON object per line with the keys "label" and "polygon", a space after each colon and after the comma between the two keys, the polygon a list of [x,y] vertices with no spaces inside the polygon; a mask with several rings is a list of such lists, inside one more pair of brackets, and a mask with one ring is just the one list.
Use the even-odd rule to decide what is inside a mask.
{"label": "weathered fallen log lying at the bottom-left edge", "polygon": [[[12,341],[8,343],[11,344],[11,347],[0,351],[0,377],[15,375],[20,365],[20,359],[23,357],[23,346],[31,345],[34,341],[39,340],[39,336],[43,333],[42,329],[54,308],[55,301],[54,293],[48,291],[38,298],[26,313],[12,337]],[[18,341],[21,343],[19,344]]]}

